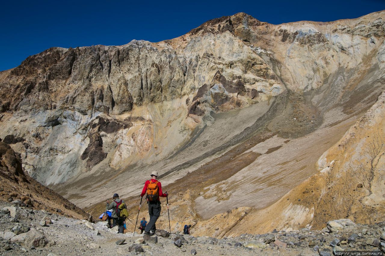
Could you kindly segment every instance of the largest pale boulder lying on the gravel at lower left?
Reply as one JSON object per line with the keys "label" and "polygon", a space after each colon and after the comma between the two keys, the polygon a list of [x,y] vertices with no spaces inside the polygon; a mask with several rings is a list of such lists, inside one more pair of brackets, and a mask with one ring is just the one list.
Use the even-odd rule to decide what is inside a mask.
{"label": "largest pale boulder lying on the gravel at lower left", "polygon": [[25,248],[34,247],[44,247],[46,245],[52,246],[55,244],[55,241],[51,238],[47,238],[40,231],[37,231],[35,228],[31,228],[30,231],[22,234],[18,234],[11,238],[12,243],[18,243]]}

